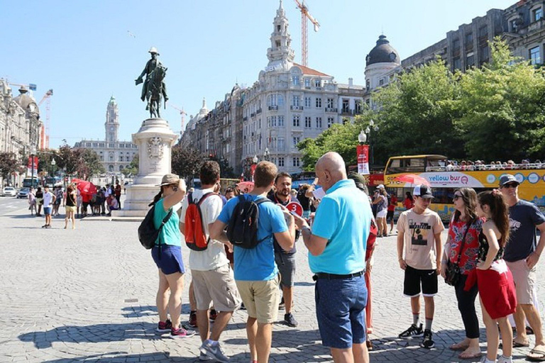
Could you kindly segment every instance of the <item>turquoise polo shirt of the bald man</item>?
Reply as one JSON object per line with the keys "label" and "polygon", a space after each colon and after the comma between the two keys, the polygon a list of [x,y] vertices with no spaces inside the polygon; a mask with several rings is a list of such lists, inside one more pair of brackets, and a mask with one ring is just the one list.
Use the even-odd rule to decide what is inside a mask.
{"label": "turquoise polo shirt of the bald man", "polygon": [[339,180],[331,186],[312,224],[312,234],[328,242],[321,255],[309,253],[311,271],[340,275],[363,271],[372,217],[368,196],[353,180]]}

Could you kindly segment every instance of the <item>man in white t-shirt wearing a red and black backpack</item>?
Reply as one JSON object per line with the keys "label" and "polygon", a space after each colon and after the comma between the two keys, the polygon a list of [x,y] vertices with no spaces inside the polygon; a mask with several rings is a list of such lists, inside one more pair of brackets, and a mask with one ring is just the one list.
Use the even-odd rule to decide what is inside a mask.
{"label": "man in white t-shirt wearing a red and black backpack", "polygon": [[[180,230],[190,250],[189,267],[197,301],[197,326],[202,340],[199,359],[209,357],[216,362],[229,362],[219,345],[219,336],[231,320],[233,311],[241,305],[241,297],[224,249],[224,244],[232,248],[231,243],[209,238],[209,226],[216,221],[224,206],[219,194],[214,192],[219,184],[219,174],[217,162],[206,161],[202,164],[199,174],[202,189],[195,189],[184,199]],[[214,308],[219,313],[209,331],[211,302],[214,302]]]}

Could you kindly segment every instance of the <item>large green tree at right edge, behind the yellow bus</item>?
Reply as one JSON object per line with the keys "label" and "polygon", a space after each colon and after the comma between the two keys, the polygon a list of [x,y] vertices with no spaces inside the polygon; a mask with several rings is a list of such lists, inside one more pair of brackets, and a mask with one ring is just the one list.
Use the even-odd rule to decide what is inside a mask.
{"label": "large green tree at right edge, behind the yellow bus", "polygon": [[461,77],[459,125],[471,159],[541,159],[545,152],[545,70],[513,57],[500,38],[492,62]]}

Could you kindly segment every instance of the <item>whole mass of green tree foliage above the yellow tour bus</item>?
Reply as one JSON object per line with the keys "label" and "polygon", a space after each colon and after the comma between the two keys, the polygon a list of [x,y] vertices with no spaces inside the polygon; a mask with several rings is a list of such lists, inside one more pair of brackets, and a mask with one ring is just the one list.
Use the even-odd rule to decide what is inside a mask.
{"label": "whole mass of green tree foliage above the yellow tour bus", "polygon": [[353,125],[335,125],[299,143],[304,169],[327,151],[356,163],[357,135],[373,119],[375,164],[395,155],[441,154],[451,159],[542,159],[545,154],[545,67],[512,57],[506,43],[490,44],[491,62],[452,73],[437,59],[397,74],[376,91],[377,109]]}

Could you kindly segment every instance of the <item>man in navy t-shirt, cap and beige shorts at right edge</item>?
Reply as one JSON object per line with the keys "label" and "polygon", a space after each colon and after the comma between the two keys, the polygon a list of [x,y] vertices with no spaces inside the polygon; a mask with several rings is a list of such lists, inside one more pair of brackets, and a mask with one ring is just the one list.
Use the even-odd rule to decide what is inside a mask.
{"label": "man in navy t-shirt, cap and beige shorts at right edge", "polygon": [[[517,290],[517,311],[514,323],[517,325],[517,345],[529,345],[524,316],[534,330],[536,345],[528,354],[530,359],[545,360],[545,340],[541,328],[539,311],[534,306],[536,288],[536,264],[545,247],[545,216],[534,204],[519,199],[519,181],[511,174],[500,177],[500,190],[509,205],[510,237],[505,245],[503,259],[511,270]],[[540,231],[536,243],[536,228]]]}

